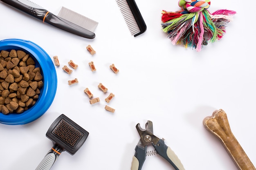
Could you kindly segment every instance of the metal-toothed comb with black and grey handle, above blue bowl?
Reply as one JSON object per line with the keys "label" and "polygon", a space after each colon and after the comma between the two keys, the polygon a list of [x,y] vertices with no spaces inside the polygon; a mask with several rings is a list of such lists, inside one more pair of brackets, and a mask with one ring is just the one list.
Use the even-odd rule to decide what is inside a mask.
{"label": "metal-toothed comb with black and grey handle, above blue bowl", "polygon": [[[19,9],[20,11],[23,11],[29,15],[32,15],[35,18],[42,20],[43,22],[56,26],[59,29],[79,35],[84,38],[93,39],[95,37],[95,34],[93,33],[93,31],[98,25],[98,22],[95,22],[94,20],[91,20],[74,11],[63,8],[59,13],[59,15],[61,15],[61,17],[63,18],[64,16],[69,16],[66,18],[72,18],[72,21],[74,21],[72,22],[68,19],[63,19],[60,16],[54,15],[53,13],[47,11],[46,9],[43,9],[39,5],[29,0],[1,0],[1,1],[10,5],[11,7]],[[76,20],[74,20],[74,18],[76,18]]]}

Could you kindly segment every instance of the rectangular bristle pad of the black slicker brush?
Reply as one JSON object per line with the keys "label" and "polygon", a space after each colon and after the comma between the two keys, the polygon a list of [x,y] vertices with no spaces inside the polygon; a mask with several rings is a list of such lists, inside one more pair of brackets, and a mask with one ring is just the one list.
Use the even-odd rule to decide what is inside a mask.
{"label": "rectangular bristle pad of the black slicker brush", "polygon": [[78,129],[74,128],[74,126],[70,125],[67,121],[62,119],[58,125],[54,128],[52,133],[61,139],[61,141],[70,145],[72,148],[76,146],[76,144],[83,137],[83,133]]}

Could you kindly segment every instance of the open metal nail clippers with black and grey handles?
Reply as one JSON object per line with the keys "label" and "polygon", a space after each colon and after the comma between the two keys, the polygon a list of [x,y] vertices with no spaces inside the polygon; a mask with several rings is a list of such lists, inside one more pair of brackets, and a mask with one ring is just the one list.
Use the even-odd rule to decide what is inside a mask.
{"label": "open metal nail clippers with black and grey handles", "polygon": [[146,152],[147,145],[150,144],[155,148],[155,151],[153,152],[157,152],[157,154],[166,159],[175,170],[185,170],[177,155],[175,155],[170,147],[164,144],[164,140],[153,135],[152,121],[147,121],[145,126],[146,129],[142,129],[139,124],[136,125],[140,140],[135,147],[135,155],[132,157],[131,170],[141,170],[146,155],[148,155],[148,152]]}

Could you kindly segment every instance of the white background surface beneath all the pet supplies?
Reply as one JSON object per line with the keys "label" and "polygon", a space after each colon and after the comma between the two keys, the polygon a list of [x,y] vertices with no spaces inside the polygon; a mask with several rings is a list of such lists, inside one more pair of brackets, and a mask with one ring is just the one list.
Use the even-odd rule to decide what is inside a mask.
{"label": "white background surface beneath all the pet supplies", "polygon": [[[133,37],[115,0],[33,0],[54,14],[67,7],[99,22],[96,38],[88,40],[44,24],[0,3],[0,40],[18,38],[41,46],[60,67],[56,96],[47,112],[25,125],[0,124],[0,169],[34,170],[52,147],[45,134],[61,114],[90,132],[75,155],[63,152],[52,170],[130,170],[139,135],[137,123],[153,121],[154,134],[182,161],[186,170],[234,170],[236,165],[219,139],[202,124],[204,117],[223,109],[233,134],[256,165],[256,56],[254,9],[238,0],[213,0],[209,11],[237,12],[224,37],[201,52],[173,46],[161,28],[161,12],[177,11],[176,0],[137,0],[146,22],[144,34]],[[97,52],[90,55],[86,46]],[[53,58],[52,58],[53,60]],[[61,68],[73,60],[71,75]],[[93,61],[97,69],[88,65]],[[119,69],[115,74],[111,64]],[[77,78],[78,84],[67,81]],[[108,88],[103,93],[97,85]],[[88,87],[101,102],[91,105]],[[108,104],[115,113],[104,109]],[[148,149],[153,149],[148,147]],[[174,170],[158,156],[146,158],[142,170]]]}

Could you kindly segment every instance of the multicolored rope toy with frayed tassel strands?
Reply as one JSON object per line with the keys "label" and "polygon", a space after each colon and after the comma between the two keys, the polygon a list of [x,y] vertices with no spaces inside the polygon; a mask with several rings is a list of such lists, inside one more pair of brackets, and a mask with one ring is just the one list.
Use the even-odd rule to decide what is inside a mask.
{"label": "multicolored rope toy with frayed tassel strands", "polygon": [[235,11],[217,10],[209,13],[210,0],[180,0],[181,11],[162,11],[162,29],[173,45],[184,44],[201,51],[208,42],[220,40]]}

